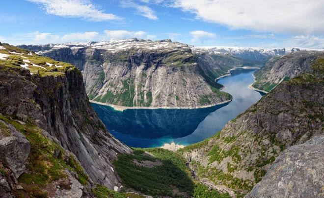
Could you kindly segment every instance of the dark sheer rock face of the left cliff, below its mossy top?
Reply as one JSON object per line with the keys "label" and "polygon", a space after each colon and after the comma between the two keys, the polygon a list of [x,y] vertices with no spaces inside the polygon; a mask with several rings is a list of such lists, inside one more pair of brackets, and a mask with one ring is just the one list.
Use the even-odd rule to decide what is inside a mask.
{"label": "dark sheer rock face of the left cliff, below its mossy top", "polygon": [[131,149],[107,132],[88,102],[79,70],[40,77],[23,68],[0,69],[0,95],[1,113],[29,118],[49,132],[77,156],[94,182],[121,185],[111,161]]}

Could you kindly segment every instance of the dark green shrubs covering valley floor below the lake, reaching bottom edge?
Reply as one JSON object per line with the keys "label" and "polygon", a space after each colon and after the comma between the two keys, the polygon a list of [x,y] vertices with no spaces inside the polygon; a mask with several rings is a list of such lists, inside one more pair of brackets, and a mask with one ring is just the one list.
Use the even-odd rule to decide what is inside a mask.
{"label": "dark green shrubs covering valley floor below the lake, reaching bottom edge", "polygon": [[[141,163],[160,161],[162,164],[146,167],[135,164],[135,160]],[[222,194],[216,190],[209,190],[207,186],[199,182],[194,183],[190,169],[186,165],[186,159],[178,152],[160,148],[136,148],[134,154],[120,155],[114,162],[114,166],[126,187],[146,195],[154,197],[229,197],[227,193]]]}

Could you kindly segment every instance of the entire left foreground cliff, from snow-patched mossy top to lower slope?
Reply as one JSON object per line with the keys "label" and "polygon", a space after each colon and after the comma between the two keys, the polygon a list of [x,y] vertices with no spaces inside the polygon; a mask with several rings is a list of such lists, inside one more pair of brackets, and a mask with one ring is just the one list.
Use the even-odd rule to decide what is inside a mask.
{"label": "entire left foreground cliff, from snow-patched mossy top to lower slope", "polygon": [[0,44],[0,193],[93,197],[122,184],[112,161],[132,150],[92,109],[78,68]]}

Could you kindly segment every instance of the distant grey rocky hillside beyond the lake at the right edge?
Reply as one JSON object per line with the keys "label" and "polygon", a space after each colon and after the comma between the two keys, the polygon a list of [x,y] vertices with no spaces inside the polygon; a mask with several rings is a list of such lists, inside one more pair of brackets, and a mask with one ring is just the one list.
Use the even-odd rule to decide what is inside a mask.
{"label": "distant grey rocky hillside beyond the lake at the right edge", "polygon": [[289,80],[305,72],[312,72],[312,65],[321,51],[296,51],[282,57],[270,59],[266,65],[254,73],[254,88],[270,91],[284,80]]}

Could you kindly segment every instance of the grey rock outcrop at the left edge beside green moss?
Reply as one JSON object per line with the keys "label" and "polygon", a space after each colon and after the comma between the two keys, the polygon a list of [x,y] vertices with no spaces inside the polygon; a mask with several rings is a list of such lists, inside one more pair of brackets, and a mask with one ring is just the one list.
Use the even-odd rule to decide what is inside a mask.
{"label": "grey rock outcrop at the left edge beside green moss", "polygon": [[7,127],[11,135],[0,138],[0,163],[9,168],[13,172],[15,179],[18,179],[26,170],[30,143],[23,134],[17,132],[11,125]]}

